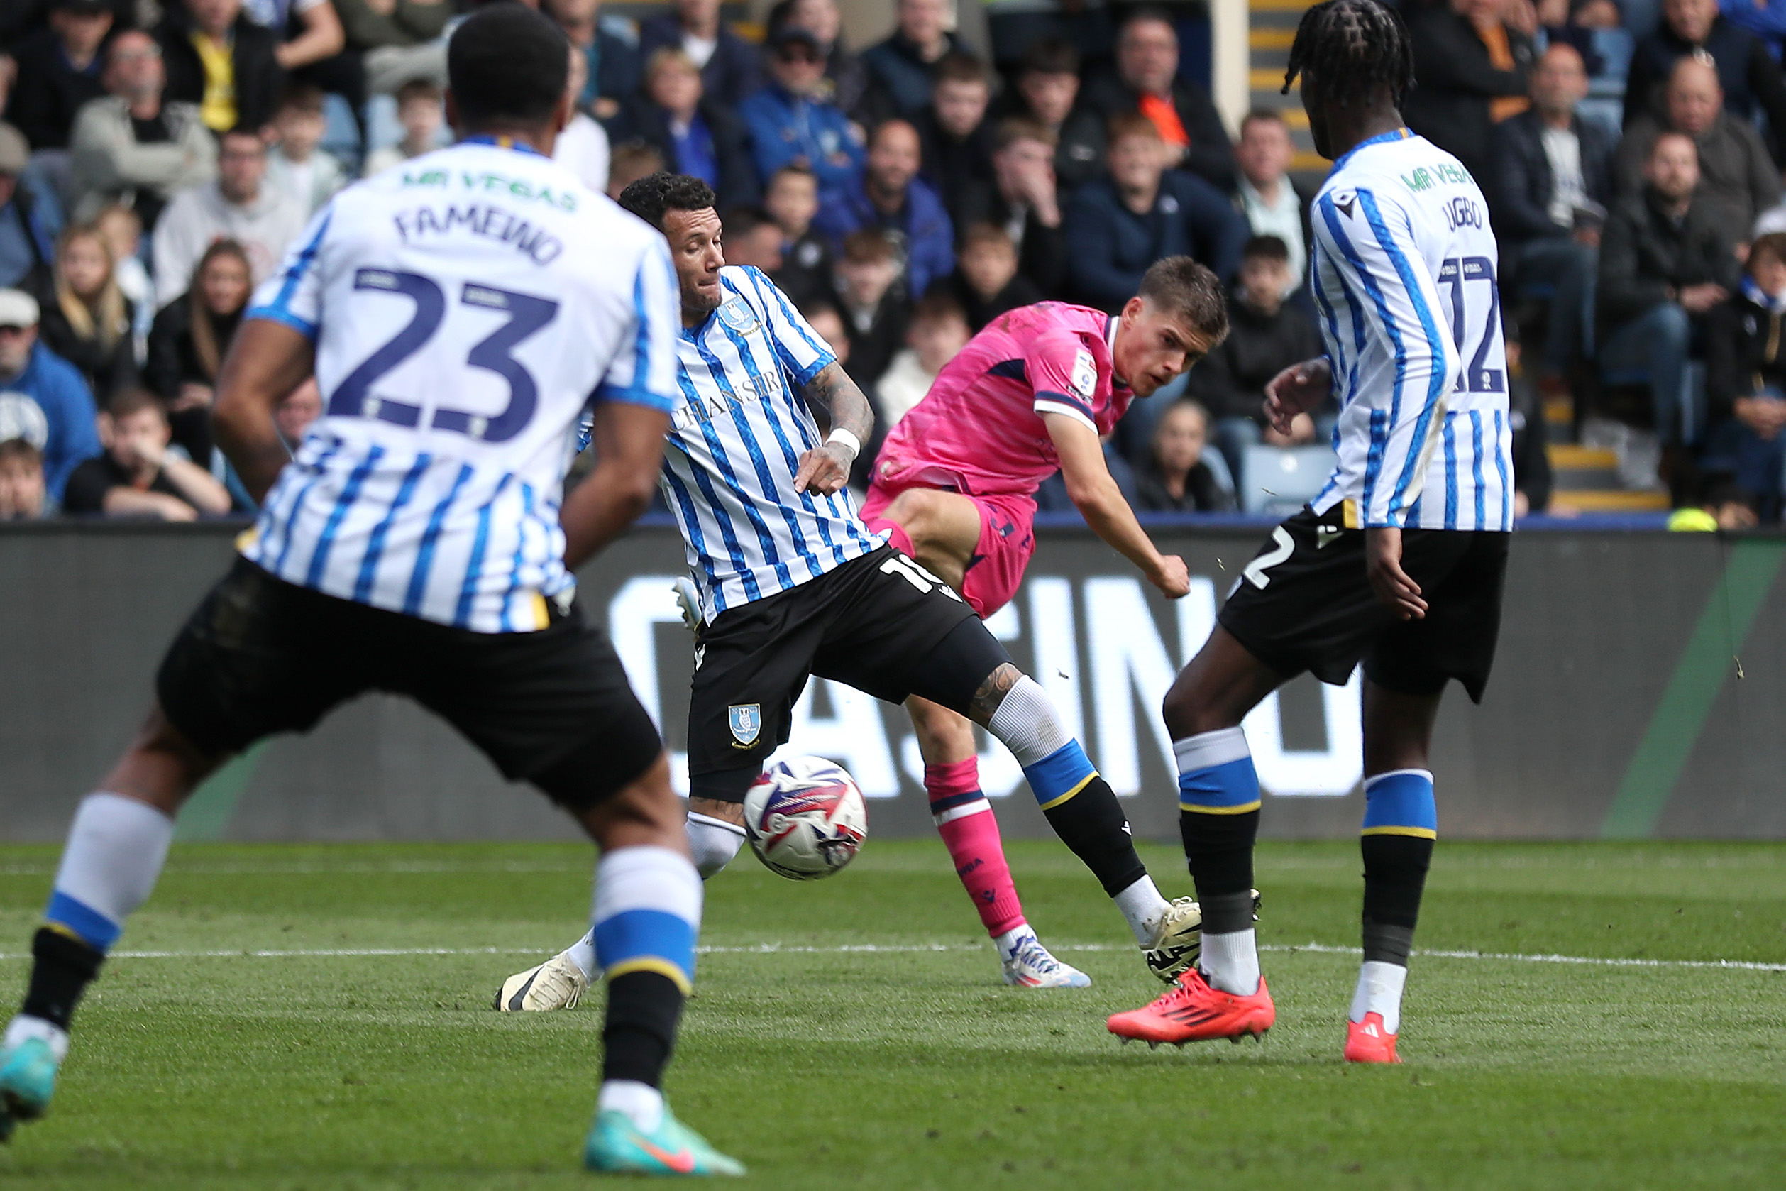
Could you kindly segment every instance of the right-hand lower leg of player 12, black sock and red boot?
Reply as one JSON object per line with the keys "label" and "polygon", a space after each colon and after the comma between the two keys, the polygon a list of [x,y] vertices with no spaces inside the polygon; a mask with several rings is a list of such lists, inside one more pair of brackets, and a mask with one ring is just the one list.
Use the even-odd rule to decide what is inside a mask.
{"label": "right-hand lower leg of player 12, black sock and red boot", "polygon": [[1402,987],[1438,839],[1427,743],[1438,695],[1365,684],[1365,962],[1347,1014],[1348,1062],[1400,1062]]}

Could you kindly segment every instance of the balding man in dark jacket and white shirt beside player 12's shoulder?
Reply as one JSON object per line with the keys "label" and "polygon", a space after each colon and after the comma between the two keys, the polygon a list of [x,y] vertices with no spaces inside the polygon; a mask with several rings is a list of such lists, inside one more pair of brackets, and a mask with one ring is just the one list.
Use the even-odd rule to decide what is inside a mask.
{"label": "balding man in dark jacket and white shirt beside player 12's shoulder", "polygon": [[1532,105],[1495,125],[1490,211],[1502,279],[1552,286],[1541,375],[1563,377],[1586,350],[1600,227],[1613,204],[1613,139],[1575,112],[1588,73],[1570,45],[1532,68]]}

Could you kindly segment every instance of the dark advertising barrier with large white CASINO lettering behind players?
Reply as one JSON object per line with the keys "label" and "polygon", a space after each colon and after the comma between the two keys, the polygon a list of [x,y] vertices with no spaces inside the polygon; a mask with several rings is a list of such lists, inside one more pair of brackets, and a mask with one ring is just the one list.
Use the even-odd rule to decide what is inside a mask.
{"label": "dark advertising barrier with large white CASINO lettering behind players", "polygon": [[[0,839],[61,839],[75,802],[138,727],[161,652],[229,566],[238,527],[0,529]],[[1159,700],[1206,637],[1264,530],[1156,529],[1191,595],[1166,602],[1082,529],[1043,529],[993,632],[1041,682],[1143,837],[1177,836]],[[1447,695],[1434,741],[1440,830],[1470,839],[1786,837],[1786,539],[1552,530],[1515,537],[1488,696]],[[691,646],[668,527],[580,573],[686,780]],[[1359,680],[1304,677],[1247,721],[1263,830],[1345,837],[1363,812]],[[872,832],[932,830],[904,711],[809,684],[795,752],[836,757]],[[1009,836],[1047,836],[1014,761],[981,757]],[[575,832],[427,712],[355,700],[305,737],[263,743],[188,805],[182,839],[555,839]]]}

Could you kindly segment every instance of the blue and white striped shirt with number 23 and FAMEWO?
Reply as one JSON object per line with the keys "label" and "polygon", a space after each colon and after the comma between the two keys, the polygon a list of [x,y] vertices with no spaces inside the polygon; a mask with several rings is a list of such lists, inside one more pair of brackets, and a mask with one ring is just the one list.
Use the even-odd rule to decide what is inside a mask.
{"label": "blue and white striped shirt with number 23 and FAMEWO", "polygon": [[595,402],[675,400],[663,236],[532,150],[464,141],[336,195],[248,318],[316,345],[325,411],[241,554],[473,632],[568,600],[559,500]]}

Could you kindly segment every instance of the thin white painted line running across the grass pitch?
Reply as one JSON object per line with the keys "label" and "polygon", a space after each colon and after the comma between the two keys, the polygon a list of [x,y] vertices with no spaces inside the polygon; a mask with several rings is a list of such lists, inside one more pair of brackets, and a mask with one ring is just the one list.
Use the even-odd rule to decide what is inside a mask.
{"label": "thin white painted line running across the grass pitch", "polygon": [[[204,952],[113,952],[113,959],[363,959],[404,955],[543,955],[547,948],[529,946],[339,946],[339,948],[282,948],[282,950],[204,950]],[[809,946],[757,943],[752,946],[702,946],[702,955],[918,955],[934,952],[979,952],[979,943],[848,943],[839,946]],[[1068,943],[1057,952],[1127,952],[1111,943]],[[1261,952],[1313,952],[1316,955],[1361,955],[1356,946],[1329,943],[1264,943]],[[1743,959],[1609,959],[1602,955],[1527,955],[1518,952],[1452,952],[1415,950],[1422,959],[1475,959],[1507,964],[1581,964],[1588,968],[1723,968],[1731,971],[1786,971],[1782,964],[1763,964]],[[30,959],[29,952],[0,952],[0,961]]]}

